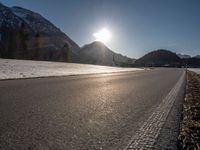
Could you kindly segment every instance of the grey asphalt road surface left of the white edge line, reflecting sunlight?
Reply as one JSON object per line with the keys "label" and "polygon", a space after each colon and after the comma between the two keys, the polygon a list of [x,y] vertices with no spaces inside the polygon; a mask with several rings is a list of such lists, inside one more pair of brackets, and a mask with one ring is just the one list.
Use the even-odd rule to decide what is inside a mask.
{"label": "grey asphalt road surface left of the white edge line, reflecting sunlight", "polygon": [[0,81],[0,149],[123,149],[182,72]]}

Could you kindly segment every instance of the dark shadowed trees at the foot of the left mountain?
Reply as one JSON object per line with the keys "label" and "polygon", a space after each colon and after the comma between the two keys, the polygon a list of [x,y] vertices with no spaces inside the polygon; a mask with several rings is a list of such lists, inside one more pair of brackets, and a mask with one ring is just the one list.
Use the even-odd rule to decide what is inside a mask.
{"label": "dark shadowed trees at the foot of the left mountain", "polygon": [[57,50],[55,48],[44,48],[42,35],[40,33],[29,33],[24,23],[21,23],[18,29],[11,29],[6,26],[0,28],[0,57],[72,61],[71,50],[67,43]]}

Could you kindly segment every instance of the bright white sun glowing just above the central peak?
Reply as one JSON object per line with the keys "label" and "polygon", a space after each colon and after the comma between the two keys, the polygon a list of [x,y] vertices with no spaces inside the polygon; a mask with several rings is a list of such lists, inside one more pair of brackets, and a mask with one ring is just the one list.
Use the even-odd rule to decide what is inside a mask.
{"label": "bright white sun glowing just above the central peak", "polygon": [[100,41],[102,43],[107,43],[111,39],[111,33],[107,28],[95,32],[93,36],[96,38],[95,41]]}

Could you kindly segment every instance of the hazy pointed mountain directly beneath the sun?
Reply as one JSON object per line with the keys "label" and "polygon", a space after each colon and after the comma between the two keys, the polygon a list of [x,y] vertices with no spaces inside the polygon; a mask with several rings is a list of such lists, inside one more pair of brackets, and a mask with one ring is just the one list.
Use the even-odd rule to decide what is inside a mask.
{"label": "hazy pointed mountain directly beneath the sun", "polygon": [[83,46],[79,55],[81,56],[80,62],[87,64],[129,66],[134,62],[134,59],[117,54],[97,41]]}

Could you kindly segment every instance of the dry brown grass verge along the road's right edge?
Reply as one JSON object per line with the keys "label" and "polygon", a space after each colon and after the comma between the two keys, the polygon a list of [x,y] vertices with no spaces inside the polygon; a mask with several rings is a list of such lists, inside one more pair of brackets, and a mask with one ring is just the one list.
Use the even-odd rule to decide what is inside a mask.
{"label": "dry brown grass verge along the road's right edge", "polygon": [[200,149],[200,74],[191,71],[187,71],[187,87],[180,126],[179,149]]}

